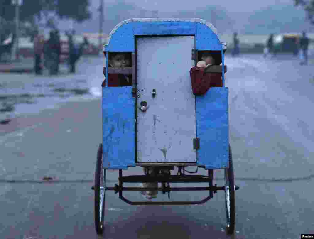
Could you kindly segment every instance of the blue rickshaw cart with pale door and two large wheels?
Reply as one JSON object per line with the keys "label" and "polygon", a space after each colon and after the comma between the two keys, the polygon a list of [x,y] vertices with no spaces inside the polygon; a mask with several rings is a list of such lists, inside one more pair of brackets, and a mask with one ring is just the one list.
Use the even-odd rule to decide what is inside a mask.
{"label": "blue rickshaw cart with pale door and two large wheels", "polygon": [[[104,231],[106,191],[119,193],[131,205],[203,204],[218,190],[225,191],[226,231],[235,227],[235,186],[229,144],[228,88],[225,87],[226,44],[215,27],[196,18],[139,18],[118,24],[110,33],[104,54],[109,74],[131,75],[131,86],[102,85],[103,143],[100,143],[95,171],[95,226]],[[223,87],[194,95],[189,70],[196,66],[202,51],[221,54],[221,66],[206,72],[222,73]],[[109,67],[110,53],[131,56],[131,67]],[[144,107],[143,107],[144,106]],[[128,167],[154,166],[173,170],[176,175],[122,176]],[[185,174],[197,166],[208,175]],[[182,173],[183,169],[183,173]],[[224,169],[225,184],[213,185],[214,170]],[[106,186],[106,170],[119,170],[119,184]],[[124,187],[123,183],[161,183],[161,188]],[[208,183],[208,187],[170,187],[170,183]],[[209,191],[201,201],[130,201],[123,191],[157,190]]]}

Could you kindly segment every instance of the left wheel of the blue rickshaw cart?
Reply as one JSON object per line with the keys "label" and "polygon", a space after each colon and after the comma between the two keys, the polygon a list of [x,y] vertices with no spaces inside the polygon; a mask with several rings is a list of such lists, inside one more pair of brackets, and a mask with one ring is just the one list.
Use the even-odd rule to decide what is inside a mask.
{"label": "left wheel of the blue rickshaw cart", "polygon": [[106,174],[102,166],[102,144],[99,144],[95,171],[95,227],[96,233],[102,235],[104,232]]}

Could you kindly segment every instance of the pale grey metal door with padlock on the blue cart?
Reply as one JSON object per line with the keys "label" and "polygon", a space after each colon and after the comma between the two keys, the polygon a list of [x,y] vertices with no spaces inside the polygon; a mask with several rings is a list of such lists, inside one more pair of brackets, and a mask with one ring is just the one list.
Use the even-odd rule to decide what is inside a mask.
{"label": "pale grey metal door with padlock on the blue cart", "polygon": [[137,162],[196,162],[194,47],[194,36],[137,38]]}

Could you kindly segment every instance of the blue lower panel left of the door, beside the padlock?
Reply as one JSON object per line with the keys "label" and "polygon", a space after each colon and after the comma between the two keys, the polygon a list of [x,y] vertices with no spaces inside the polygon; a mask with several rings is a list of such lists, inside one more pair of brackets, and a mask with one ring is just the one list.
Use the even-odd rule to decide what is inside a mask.
{"label": "blue lower panel left of the door, beside the padlock", "polygon": [[132,87],[103,87],[103,167],[135,166],[135,98]]}

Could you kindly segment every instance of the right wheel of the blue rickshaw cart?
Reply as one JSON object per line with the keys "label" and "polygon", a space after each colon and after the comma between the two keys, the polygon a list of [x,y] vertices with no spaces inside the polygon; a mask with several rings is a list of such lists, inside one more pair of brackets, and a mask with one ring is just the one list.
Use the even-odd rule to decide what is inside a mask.
{"label": "right wheel of the blue rickshaw cart", "polygon": [[226,232],[232,235],[235,230],[235,183],[233,174],[232,153],[229,144],[229,168],[225,169],[225,206],[226,206]]}

